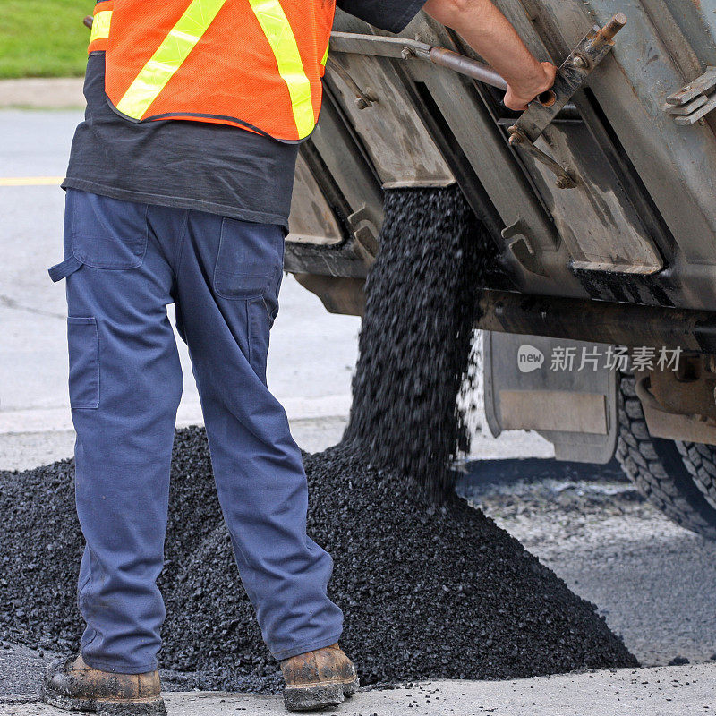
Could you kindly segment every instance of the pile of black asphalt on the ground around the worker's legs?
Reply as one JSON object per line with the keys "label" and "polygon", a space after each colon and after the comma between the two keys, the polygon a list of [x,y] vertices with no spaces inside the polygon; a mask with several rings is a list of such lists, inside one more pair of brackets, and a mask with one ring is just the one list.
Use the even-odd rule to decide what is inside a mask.
{"label": "pile of black asphalt on the ground around the worker's legs", "polygon": [[[398,473],[350,446],[304,462],[308,531],[335,560],[330,593],[363,684],[635,665],[591,604],[463,499],[416,499]],[[277,665],[234,564],[199,428],[177,432],[170,510],[160,663],[184,675],[167,683],[276,692]],[[76,648],[72,461],[2,473],[0,517],[0,632],[49,651]]]}

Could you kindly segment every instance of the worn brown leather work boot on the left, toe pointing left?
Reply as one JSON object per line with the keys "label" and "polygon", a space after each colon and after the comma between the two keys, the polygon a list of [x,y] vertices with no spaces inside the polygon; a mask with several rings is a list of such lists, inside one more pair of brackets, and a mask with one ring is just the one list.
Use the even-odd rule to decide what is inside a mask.
{"label": "worn brown leather work boot on the left, toe pointing left", "polygon": [[92,669],[81,656],[55,661],[47,669],[42,698],[70,711],[107,716],[165,716],[159,672],[113,674]]}

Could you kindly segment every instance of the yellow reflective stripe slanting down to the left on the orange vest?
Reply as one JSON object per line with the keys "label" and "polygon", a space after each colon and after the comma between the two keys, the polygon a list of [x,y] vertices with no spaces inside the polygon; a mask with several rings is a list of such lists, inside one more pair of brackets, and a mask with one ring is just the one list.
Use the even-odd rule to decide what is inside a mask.
{"label": "yellow reflective stripe slanting down to the left on the orange vest", "polygon": [[123,115],[141,119],[217,16],[226,0],[192,0],[182,17],[117,102]]}

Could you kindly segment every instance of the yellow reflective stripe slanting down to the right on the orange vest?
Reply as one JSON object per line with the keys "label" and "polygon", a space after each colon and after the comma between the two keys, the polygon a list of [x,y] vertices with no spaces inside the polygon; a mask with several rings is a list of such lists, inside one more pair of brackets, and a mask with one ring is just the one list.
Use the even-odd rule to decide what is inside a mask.
{"label": "yellow reflective stripe slanting down to the right on the orange vest", "polygon": [[315,119],[311,82],[303,70],[294,31],[278,0],[249,0],[249,3],[276,57],[278,73],[288,87],[298,138],[303,140],[313,131]]}

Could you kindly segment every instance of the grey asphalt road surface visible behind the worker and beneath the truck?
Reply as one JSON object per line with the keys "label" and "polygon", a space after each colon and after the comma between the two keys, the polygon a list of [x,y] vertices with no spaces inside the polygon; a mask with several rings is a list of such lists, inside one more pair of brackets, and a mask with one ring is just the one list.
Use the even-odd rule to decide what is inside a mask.
{"label": "grey asphalt road surface visible behind the worker and beneath the truck", "polygon": [[[47,277],[61,258],[64,173],[79,112],[0,112],[0,469],[72,451],[64,294]],[[350,405],[359,321],[332,316],[287,278],[272,335],[269,385],[303,447],[337,441]],[[188,357],[179,422],[200,422]],[[716,659],[716,543],[669,523],[614,465],[555,463],[523,432],[478,439],[482,460],[460,490],[596,603],[645,665]],[[524,459],[527,458],[527,459]],[[2,635],[0,635],[2,638]],[[51,657],[2,644],[0,700],[37,694]]]}

